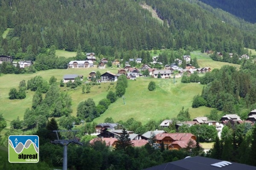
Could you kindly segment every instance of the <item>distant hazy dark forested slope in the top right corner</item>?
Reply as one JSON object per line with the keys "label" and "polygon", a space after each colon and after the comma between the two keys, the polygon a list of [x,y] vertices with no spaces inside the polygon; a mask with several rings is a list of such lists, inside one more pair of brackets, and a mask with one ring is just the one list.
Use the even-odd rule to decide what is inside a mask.
{"label": "distant hazy dark forested slope in the top right corner", "polygon": [[256,23],[255,0],[200,0],[214,8],[221,8],[250,23]]}

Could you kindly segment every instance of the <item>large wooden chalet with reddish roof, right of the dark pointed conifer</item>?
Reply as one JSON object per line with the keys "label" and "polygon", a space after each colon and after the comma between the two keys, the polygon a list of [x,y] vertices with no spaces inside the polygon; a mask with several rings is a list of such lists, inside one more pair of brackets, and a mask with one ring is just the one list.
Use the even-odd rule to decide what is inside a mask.
{"label": "large wooden chalet with reddish roof, right of the dark pointed conifer", "polygon": [[156,135],[156,143],[163,142],[165,147],[169,150],[180,150],[186,148],[189,140],[196,141],[195,135],[192,133],[159,133]]}

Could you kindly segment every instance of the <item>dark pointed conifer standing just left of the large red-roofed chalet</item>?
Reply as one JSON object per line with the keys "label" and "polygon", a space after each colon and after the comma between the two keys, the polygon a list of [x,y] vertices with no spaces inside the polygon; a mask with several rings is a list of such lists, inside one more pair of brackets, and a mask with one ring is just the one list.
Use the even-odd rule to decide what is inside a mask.
{"label": "dark pointed conifer standing just left of the large red-roofed chalet", "polygon": [[125,128],[122,129],[122,133],[117,137],[116,150],[127,150],[129,147],[132,147],[133,144]]}

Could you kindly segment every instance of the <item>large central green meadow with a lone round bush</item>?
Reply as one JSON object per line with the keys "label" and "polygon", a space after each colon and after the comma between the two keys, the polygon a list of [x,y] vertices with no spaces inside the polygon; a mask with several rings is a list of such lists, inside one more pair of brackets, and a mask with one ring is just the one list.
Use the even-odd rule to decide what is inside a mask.
{"label": "large central green meadow with a lone round bush", "polygon": [[[111,104],[105,113],[94,121],[103,122],[107,117],[114,121],[127,120],[131,117],[145,124],[149,120],[160,120],[176,117],[184,106],[189,108],[191,117],[204,116],[209,114],[212,108],[192,108],[192,99],[195,95],[201,94],[203,85],[198,83],[181,83],[181,79],[154,79],[138,78],[128,81],[128,88],[125,92],[125,105],[123,98],[119,98]],[[155,91],[148,91],[148,83],[154,81],[157,84]]]}

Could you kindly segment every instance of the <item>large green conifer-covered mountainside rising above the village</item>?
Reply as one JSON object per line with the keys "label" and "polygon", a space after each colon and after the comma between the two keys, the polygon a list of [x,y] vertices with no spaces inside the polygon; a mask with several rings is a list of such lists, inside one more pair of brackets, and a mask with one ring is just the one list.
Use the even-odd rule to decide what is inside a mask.
{"label": "large green conifer-covered mountainside rising above the village", "polygon": [[[207,49],[243,54],[256,37],[187,0],[146,0],[159,23],[131,0],[0,0],[0,53],[32,59],[55,45],[58,49],[93,51],[122,58],[120,51],[152,48]],[[144,2],[143,2],[144,3]],[[254,28],[254,26],[252,25]],[[119,52],[119,53],[118,53]],[[32,57],[26,58],[28,54]]]}

